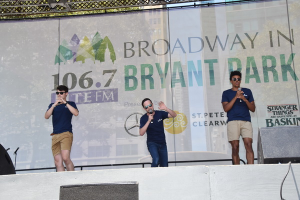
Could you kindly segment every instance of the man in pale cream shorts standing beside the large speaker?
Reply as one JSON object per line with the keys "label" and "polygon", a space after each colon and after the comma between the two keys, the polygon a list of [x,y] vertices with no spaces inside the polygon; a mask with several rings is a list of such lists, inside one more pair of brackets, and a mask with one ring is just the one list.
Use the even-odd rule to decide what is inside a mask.
{"label": "man in pale cream shorts standing beside the large speaker", "polygon": [[240,71],[231,71],[229,80],[232,88],[223,91],[221,102],[224,111],[227,112],[227,136],[232,148],[232,162],[239,164],[239,137],[242,136],[247,164],[253,164],[253,129],[249,110],[255,111],[254,98],[250,89],[240,87]]}

